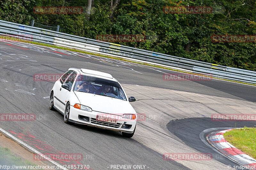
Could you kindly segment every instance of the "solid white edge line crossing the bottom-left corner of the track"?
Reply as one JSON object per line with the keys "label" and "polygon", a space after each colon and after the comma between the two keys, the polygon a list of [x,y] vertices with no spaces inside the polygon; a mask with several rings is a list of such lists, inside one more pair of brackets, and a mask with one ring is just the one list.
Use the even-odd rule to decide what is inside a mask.
{"label": "solid white edge line crossing the bottom-left corner of the track", "polygon": [[20,139],[14,137],[12,134],[10,134],[9,132],[5,131],[4,129],[0,128],[0,131],[3,132],[5,135],[9,136],[10,138],[12,138],[14,141],[19,142],[21,145],[23,145],[23,146],[27,147],[28,149],[32,150],[33,152],[37,153],[38,155],[43,156],[45,159],[49,160],[54,165],[58,166],[60,169],[68,170],[67,168],[64,168],[62,165],[58,164],[54,160],[52,160],[52,159],[48,158],[47,156],[45,156],[43,153],[41,153],[41,152],[37,151],[36,149],[32,148],[31,146],[27,145],[26,143],[24,143]]}

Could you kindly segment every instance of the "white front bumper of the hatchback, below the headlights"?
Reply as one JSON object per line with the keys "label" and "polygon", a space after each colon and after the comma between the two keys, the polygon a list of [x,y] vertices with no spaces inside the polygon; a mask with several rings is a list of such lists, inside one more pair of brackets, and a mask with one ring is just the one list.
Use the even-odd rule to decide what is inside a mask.
{"label": "white front bumper of the hatchback, below the headlights", "polygon": [[[69,121],[77,124],[84,124],[84,125],[94,126],[102,129],[112,130],[112,131],[133,133],[134,128],[136,126],[137,119],[134,119],[134,120],[125,119],[124,121],[118,119],[117,124],[96,120],[97,115],[102,115],[102,114],[103,113],[101,112],[97,112],[97,111],[89,112],[85,110],[76,109],[73,106],[70,106]],[[111,115],[111,114],[104,113],[104,115]]]}

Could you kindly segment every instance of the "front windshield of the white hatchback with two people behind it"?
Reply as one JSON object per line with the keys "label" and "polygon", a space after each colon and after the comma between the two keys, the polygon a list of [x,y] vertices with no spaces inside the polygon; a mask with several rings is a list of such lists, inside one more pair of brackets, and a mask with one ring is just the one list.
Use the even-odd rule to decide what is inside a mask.
{"label": "front windshield of the white hatchback with two people behind it", "polygon": [[76,79],[74,91],[127,100],[118,82],[91,76],[79,75]]}

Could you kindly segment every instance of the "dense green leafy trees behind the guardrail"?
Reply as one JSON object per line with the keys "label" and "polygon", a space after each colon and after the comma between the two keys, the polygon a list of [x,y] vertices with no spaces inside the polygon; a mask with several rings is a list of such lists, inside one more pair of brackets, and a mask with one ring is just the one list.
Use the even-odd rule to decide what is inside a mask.
{"label": "dense green leafy trees behind the guardrail", "polygon": [[[113,0],[114,2],[114,0]],[[65,28],[65,33],[95,39],[99,34],[157,35],[158,40],[118,44],[256,71],[256,44],[212,42],[212,35],[256,35],[255,0],[0,0],[0,19],[28,24],[30,19]],[[34,14],[35,6],[82,6],[82,14]],[[167,14],[164,6],[222,6],[224,13]],[[115,42],[116,43],[116,42]]]}

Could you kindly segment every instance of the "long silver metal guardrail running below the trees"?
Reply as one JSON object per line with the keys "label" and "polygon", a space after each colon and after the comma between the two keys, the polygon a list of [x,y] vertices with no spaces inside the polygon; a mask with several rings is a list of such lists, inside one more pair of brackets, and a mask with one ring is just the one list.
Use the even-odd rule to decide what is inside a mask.
{"label": "long silver metal guardrail running below the trees", "polygon": [[256,72],[254,71],[156,53],[129,46],[122,46],[95,39],[79,37],[62,32],[45,30],[28,25],[21,25],[0,20],[0,33],[18,36],[30,35],[33,36],[32,41],[35,42],[71,47],[85,51],[89,50],[107,53],[110,55],[128,57],[166,66],[179,67],[191,70],[194,73],[211,74],[213,77],[256,84]]}

